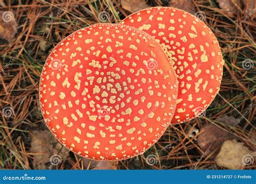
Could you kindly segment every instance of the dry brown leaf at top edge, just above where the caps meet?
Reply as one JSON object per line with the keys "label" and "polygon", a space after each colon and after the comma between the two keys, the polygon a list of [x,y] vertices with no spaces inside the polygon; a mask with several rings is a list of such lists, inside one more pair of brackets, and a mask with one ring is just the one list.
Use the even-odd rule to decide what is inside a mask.
{"label": "dry brown leaf at top edge, just above where the caps meet", "polygon": [[131,13],[151,7],[146,4],[145,0],[121,0],[121,5],[123,9]]}

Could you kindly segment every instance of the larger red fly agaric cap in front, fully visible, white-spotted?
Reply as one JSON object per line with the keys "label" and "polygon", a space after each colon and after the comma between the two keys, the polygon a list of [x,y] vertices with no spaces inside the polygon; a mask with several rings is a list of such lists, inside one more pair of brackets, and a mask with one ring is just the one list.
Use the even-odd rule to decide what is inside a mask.
{"label": "larger red fly agaric cap in front, fully visible, white-spotted", "polygon": [[176,107],[177,78],[151,36],[121,24],[70,34],[50,53],[39,90],[43,117],[69,150],[96,160],[146,151]]}

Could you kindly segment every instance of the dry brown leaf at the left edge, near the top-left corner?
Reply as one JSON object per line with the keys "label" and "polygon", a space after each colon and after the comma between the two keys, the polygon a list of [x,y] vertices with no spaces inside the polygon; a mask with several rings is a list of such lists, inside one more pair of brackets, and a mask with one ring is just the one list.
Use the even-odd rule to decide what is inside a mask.
{"label": "dry brown leaf at the left edge, near the top-left corner", "polygon": [[17,23],[11,11],[0,11],[0,38],[11,42],[17,33]]}

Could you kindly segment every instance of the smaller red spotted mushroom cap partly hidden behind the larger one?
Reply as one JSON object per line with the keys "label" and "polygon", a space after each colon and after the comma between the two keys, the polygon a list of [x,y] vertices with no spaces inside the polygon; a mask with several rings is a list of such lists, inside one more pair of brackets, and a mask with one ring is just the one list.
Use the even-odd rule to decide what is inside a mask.
{"label": "smaller red spotted mushroom cap partly hidden behind the larger one", "polygon": [[170,7],[154,7],[126,17],[121,24],[153,36],[178,77],[176,111],[171,123],[199,116],[220,89],[224,61],[217,39],[197,17]]}

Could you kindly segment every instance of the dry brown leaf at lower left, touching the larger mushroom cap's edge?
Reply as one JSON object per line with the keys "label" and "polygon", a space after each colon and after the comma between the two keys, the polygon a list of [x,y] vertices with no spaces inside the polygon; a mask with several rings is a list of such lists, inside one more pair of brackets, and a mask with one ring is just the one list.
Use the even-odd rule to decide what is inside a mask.
{"label": "dry brown leaf at lower left, touching the larger mushroom cap's edge", "polygon": [[[60,160],[64,160],[69,155],[69,150],[53,137],[48,130],[32,131],[31,153],[33,155],[34,169],[49,169],[52,165],[48,164],[52,155],[59,155]],[[60,163],[59,163],[60,164]],[[50,167],[48,167],[50,165]]]}

